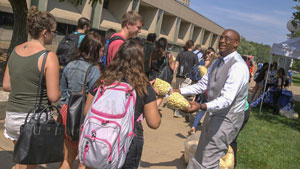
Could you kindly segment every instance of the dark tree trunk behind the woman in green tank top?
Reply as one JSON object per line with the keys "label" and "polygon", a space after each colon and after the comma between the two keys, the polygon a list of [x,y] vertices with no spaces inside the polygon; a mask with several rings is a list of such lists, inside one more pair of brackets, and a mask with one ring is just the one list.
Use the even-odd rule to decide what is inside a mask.
{"label": "dark tree trunk behind the woman in green tank top", "polygon": [[7,52],[6,64],[13,49],[17,45],[27,41],[26,17],[28,8],[26,0],[9,0],[9,2],[14,14],[14,27],[10,46]]}

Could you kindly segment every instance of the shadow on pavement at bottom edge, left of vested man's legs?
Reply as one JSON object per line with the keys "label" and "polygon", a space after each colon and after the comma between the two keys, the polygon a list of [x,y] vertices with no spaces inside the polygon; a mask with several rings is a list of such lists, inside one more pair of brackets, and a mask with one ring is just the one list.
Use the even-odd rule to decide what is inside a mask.
{"label": "shadow on pavement at bottom edge, left of vested man's legs", "polygon": [[160,162],[160,163],[149,163],[146,161],[141,161],[140,164],[141,167],[144,168],[150,168],[150,167],[154,167],[154,166],[174,166],[177,169],[185,169],[186,168],[186,164],[184,162],[184,156],[182,155],[180,158],[174,159],[173,161],[166,161],[166,162]]}

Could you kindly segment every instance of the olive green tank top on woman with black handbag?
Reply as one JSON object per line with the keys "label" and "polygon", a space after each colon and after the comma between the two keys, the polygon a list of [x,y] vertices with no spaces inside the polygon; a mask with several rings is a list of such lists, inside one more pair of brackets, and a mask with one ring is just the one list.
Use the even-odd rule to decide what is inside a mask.
{"label": "olive green tank top on woman with black handbag", "polygon": [[[7,111],[27,113],[34,107],[40,79],[38,60],[45,51],[42,50],[27,57],[18,55],[15,50],[11,53],[8,60],[11,92],[8,98]],[[45,84],[45,80],[43,80],[42,105],[46,106],[48,97]]]}

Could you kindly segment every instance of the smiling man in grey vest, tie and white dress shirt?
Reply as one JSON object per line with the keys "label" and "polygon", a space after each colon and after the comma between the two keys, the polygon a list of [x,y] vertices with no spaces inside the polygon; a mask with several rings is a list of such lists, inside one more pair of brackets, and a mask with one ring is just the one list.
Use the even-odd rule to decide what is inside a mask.
{"label": "smiling man in grey vest, tie and white dress shirt", "polygon": [[174,89],[183,95],[205,93],[208,101],[191,102],[187,110],[207,111],[197,151],[188,169],[219,169],[219,160],[242,126],[249,69],[236,51],[239,44],[240,35],[234,30],[225,30],[219,41],[221,56],[212,63],[207,74],[197,84]]}

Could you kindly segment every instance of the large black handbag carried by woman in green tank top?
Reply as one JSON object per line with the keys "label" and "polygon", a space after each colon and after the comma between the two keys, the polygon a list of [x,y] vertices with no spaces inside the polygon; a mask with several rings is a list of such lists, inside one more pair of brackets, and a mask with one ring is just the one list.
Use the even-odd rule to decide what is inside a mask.
{"label": "large black handbag carried by woman in green tank top", "polygon": [[[62,117],[58,108],[50,105],[50,102],[48,102],[48,106],[42,105],[42,81],[47,55],[48,51],[46,51],[42,63],[36,104],[28,112],[24,124],[21,125],[20,137],[14,147],[13,161],[17,164],[35,165],[64,160],[65,128],[61,123]],[[38,98],[40,98],[39,103]],[[59,122],[52,116],[53,109],[58,115]],[[28,121],[30,114],[33,116]]]}

